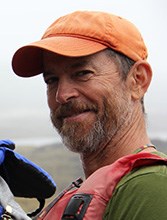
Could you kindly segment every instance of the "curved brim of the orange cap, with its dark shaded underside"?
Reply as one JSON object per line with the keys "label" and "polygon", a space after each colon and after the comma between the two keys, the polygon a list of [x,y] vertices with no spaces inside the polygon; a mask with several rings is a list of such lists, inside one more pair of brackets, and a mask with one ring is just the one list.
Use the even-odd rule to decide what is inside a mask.
{"label": "curved brim of the orange cap, with its dark shaded underside", "polygon": [[42,51],[47,50],[63,56],[87,56],[107,46],[76,37],[50,37],[21,47],[12,59],[12,67],[18,76],[31,77],[43,72]]}

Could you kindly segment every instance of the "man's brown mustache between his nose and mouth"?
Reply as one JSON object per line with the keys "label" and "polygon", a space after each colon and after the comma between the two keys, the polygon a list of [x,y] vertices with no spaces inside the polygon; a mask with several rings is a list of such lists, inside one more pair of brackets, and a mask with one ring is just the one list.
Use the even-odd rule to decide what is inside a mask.
{"label": "man's brown mustache between his nose and mouth", "polygon": [[98,108],[94,104],[81,103],[75,100],[71,100],[70,102],[60,105],[57,110],[54,112],[54,115],[58,119],[62,119],[65,117],[70,117],[75,114],[80,114],[86,111],[93,111],[97,113]]}

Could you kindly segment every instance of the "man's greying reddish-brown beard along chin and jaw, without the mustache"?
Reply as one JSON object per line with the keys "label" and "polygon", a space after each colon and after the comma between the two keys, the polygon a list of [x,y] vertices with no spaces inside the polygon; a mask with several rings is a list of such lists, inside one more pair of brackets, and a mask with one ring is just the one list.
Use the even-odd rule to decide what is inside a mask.
{"label": "man's greying reddish-brown beard along chin and jaw, without the mustache", "polygon": [[[116,97],[117,98],[117,97]],[[121,133],[131,121],[132,106],[124,97],[113,114],[111,111],[114,104],[109,103],[107,99],[103,100],[103,115],[96,117],[96,121],[87,130],[84,123],[73,123],[72,126],[59,127],[57,129],[54,112],[51,112],[53,126],[60,134],[64,145],[71,151],[77,153],[91,153],[97,151],[103,145],[106,145]],[[110,108],[109,108],[110,106]],[[79,136],[80,134],[80,136]]]}

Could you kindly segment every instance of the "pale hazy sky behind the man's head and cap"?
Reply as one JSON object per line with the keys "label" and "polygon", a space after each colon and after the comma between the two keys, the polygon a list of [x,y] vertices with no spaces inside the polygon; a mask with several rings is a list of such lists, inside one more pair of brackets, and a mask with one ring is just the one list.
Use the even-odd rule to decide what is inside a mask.
{"label": "pale hazy sky behind the man's head and cap", "polygon": [[[5,0],[0,6],[0,135],[4,126],[7,128],[10,123],[11,129],[14,129],[14,119],[24,122],[25,118],[30,117],[36,123],[35,120],[48,117],[45,85],[41,76],[31,79],[15,76],[11,69],[12,55],[20,46],[40,39],[56,18],[75,10],[115,13],[131,20],[140,29],[154,72],[145,98],[149,123],[151,128],[164,128],[163,132],[167,133],[166,0]],[[158,124],[155,125],[155,122]],[[11,130],[8,131],[10,137]]]}

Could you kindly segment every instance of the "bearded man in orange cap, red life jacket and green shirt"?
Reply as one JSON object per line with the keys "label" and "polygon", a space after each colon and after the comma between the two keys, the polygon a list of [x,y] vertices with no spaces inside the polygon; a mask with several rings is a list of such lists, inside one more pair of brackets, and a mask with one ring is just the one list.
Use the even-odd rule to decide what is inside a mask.
{"label": "bearded man in orange cap, red life jacket and green shirt", "polygon": [[131,22],[91,11],[57,19],[40,41],[15,53],[17,75],[43,73],[52,123],[80,154],[86,177],[40,219],[166,219],[166,156],[146,131],[146,59]]}

